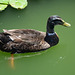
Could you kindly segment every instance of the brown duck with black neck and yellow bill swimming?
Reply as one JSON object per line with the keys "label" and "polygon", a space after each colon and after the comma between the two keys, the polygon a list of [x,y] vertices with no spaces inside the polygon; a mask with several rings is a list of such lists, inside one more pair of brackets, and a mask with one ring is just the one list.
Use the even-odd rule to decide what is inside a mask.
{"label": "brown duck with black neck and yellow bill swimming", "polygon": [[59,42],[54,31],[57,25],[71,26],[61,17],[53,15],[48,18],[46,32],[34,29],[3,29],[4,32],[0,33],[0,50],[11,54],[46,50]]}

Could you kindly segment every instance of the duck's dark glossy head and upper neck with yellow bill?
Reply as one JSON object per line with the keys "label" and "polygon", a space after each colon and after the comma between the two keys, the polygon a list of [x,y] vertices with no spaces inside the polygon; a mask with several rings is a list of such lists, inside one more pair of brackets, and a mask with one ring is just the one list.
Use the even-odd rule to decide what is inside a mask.
{"label": "duck's dark glossy head and upper neck with yellow bill", "polygon": [[64,20],[61,19],[61,17],[57,16],[57,15],[53,15],[51,17],[48,18],[47,21],[47,30],[48,32],[54,32],[54,26],[56,25],[63,25],[66,27],[70,27],[71,25],[67,22],[65,22]]}

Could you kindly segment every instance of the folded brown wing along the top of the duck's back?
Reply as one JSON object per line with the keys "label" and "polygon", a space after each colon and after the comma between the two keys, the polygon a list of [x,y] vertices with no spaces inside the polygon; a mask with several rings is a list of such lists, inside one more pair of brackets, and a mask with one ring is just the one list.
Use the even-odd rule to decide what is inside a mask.
{"label": "folded brown wing along the top of the duck's back", "polygon": [[38,42],[44,39],[46,36],[45,32],[32,30],[32,29],[13,29],[5,30],[4,33],[10,34],[10,38],[14,42],[25,41],[25,42]]}

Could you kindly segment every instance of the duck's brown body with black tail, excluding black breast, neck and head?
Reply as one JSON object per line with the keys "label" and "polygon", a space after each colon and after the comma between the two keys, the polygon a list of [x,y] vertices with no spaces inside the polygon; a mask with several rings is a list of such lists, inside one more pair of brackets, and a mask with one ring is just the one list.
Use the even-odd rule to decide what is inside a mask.
{"label": "duck's brown body with black tail, excluding black breast, neck and head", "polygon": [[[2,35],[0,39],[0,49],[2,51],[25,53],[37,52],[50,48],[50,44],[45,41],[45,32],[33,29],[4,29],[3,31],[4,32],[0,34]],[[6,42],[4,42],[5,40]]]}

